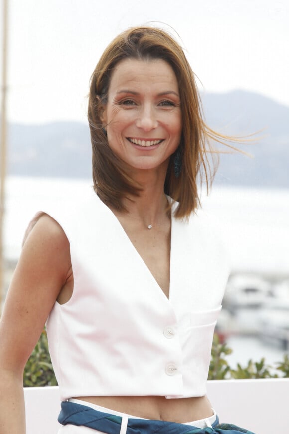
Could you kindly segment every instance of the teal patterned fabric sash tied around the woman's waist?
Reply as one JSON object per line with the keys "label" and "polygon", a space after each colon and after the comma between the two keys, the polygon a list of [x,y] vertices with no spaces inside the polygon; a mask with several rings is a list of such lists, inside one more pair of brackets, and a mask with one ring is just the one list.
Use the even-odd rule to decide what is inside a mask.
{"label": "teal patterned fabric sash tied around the woman's waist", "polygon": [[[122,417],[99,412],[88,406],[63,401],[58,422],[62,425],[85,426],[107,434],[120,434]],[[219,424],[218,417],[212,428],[197,428],[176,422],[129,418],[127,434],[254,434],[231,424]]]}

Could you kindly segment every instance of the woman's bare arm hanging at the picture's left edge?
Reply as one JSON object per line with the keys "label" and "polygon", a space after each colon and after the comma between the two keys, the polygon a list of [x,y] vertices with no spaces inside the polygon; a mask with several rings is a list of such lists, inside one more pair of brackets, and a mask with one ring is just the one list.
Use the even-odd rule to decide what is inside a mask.
{"label": "woman's bare arm hanging at the picture's left edge", "polygon": [[23,370],[69,276],[69,242],[43,215],[25,241],[0,320],[1,434],[25,434]]}

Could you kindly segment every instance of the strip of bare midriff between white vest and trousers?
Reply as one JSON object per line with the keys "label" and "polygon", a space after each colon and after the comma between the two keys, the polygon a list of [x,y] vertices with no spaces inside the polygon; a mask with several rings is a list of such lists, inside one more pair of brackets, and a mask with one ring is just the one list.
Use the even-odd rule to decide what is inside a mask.
{"label": "strip of bare midriff between white vest and trousers", "polygon": [[75,397],[139,418],[185,423],[213,415],[206,396],[166,399],[164,396]]}

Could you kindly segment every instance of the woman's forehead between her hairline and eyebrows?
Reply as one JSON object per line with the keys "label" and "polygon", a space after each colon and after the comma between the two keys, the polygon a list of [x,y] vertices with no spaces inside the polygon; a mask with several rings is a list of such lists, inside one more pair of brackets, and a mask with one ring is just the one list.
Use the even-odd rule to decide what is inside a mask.
{"label": "woman's forehead between her hairline and eyebrows", "polygon": [[165,60],[124,59],[112,72],[109,93],[131,88],[159,88],[160,92],[164,89],[178,92],[178,82],[172,67]]}

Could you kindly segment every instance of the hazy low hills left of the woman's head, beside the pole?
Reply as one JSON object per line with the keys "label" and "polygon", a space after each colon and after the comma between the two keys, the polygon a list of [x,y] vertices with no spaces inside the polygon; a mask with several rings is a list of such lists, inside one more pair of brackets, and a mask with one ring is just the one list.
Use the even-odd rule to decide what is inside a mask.
{"label": "hazy low hills left of the woman's head, beside the pole", "polygon": [[85,124],[12,124],[9,147],[11,175],[91,177],[90,135]]}

